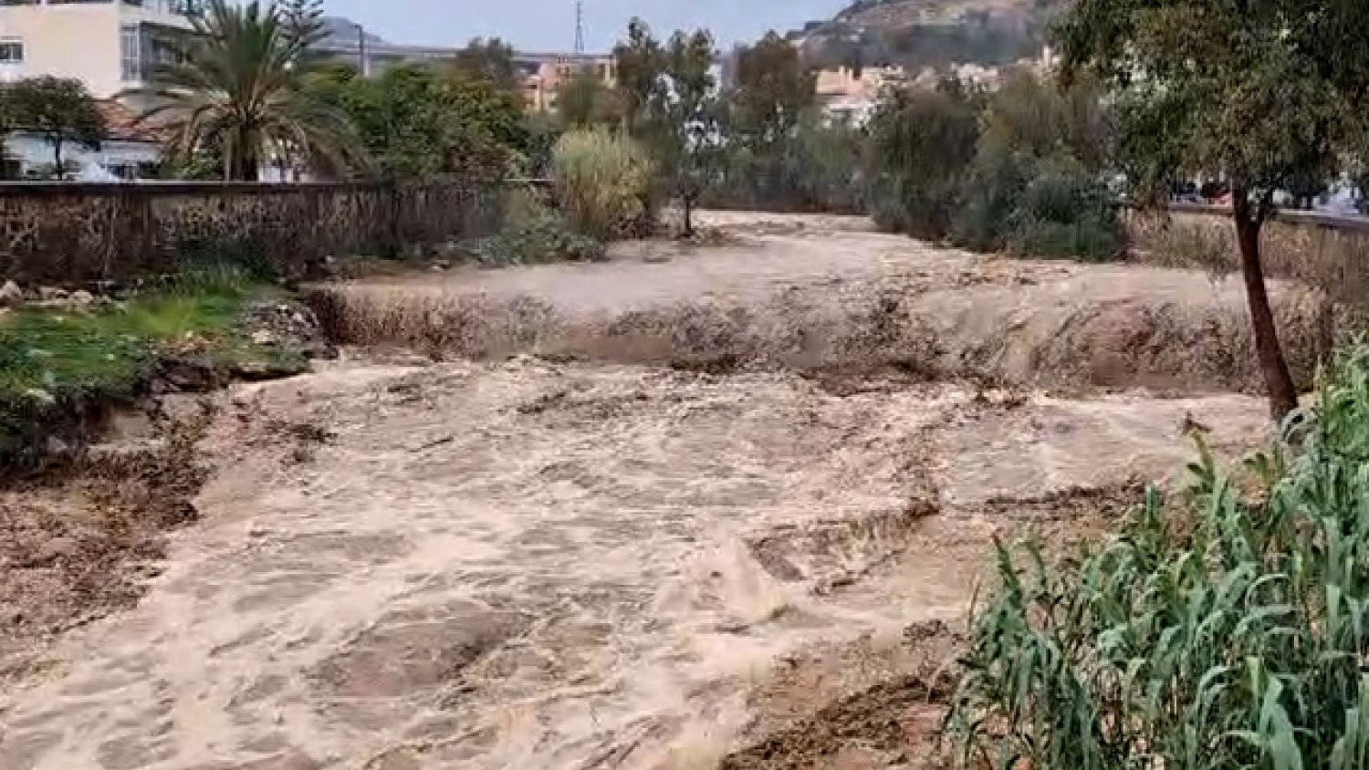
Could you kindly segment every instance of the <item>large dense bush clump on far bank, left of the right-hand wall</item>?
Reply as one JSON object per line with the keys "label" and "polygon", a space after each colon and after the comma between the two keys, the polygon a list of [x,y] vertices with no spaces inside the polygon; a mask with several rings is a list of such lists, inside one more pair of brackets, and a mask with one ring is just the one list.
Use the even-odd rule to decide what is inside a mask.
{"label": "large dense bush clump on far bank, left of the right-hand wall", "polygon": [[958,81],[894,92],[869,127],[884,230],[980,252],[1099,261],[1121,252],[1103,183],[1110,130],[1090,83],[1029,72],[984,94]]}

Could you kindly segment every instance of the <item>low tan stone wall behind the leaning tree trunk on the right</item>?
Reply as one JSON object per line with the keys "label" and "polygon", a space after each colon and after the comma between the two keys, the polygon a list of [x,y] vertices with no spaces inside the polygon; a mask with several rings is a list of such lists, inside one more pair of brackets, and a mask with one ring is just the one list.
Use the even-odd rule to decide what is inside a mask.
{"label": "low tan stone wall behind the leaning tree trunk on the right", "polygon": [[[1123,223],[1135,263],[1205,268],[1214,275],[1240,271],[1236,226],[1228,211],[1128,211]],[[1269,276],[1302,280],[1343,305],[1369,306],[1369,219],[1279,212],[1265,224],[1261,246]]]}

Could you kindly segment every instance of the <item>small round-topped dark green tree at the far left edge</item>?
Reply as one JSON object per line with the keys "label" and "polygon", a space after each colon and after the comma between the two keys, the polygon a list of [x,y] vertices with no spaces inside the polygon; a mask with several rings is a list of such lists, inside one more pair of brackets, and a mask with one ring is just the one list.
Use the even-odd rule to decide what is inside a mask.
{"label": "small round-topped dark green tree at the far left edge", "polygon": [[42,75],[4,86],[4,112],[14,129],[42,137],[52,146],[53,175],[66,172],[62,150],[68,144],[100,149],[107,133],[104,115],[85,83]]}

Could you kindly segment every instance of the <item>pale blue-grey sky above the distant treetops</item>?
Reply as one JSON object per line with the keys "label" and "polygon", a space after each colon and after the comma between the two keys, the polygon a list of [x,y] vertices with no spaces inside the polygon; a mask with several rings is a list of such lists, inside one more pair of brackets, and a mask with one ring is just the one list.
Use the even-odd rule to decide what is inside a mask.
{"label": "pale blue-grey sky above the distant treetops", "polygon": [[[830,18],[846,0],[585,0],[585,45],[608,51],[634,15],[664,36],[705,26],[721,45],[749,41],[808,19]],[[502,37],[524,51],[568,51],[575,42],[575,0],[324,0],[330,15],[349,16],[394,42],[460,45]]]}

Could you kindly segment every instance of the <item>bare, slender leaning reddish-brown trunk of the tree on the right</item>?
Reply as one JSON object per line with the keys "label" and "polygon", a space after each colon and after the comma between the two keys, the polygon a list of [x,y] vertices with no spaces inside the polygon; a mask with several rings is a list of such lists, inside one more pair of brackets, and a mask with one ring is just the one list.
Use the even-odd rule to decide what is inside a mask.
{"label": "bare, slender leaning reddish-brown trunk of the tree on the right", "polygon": [[1233,187],[1232,209],[1236,216],[1236,238],[1240,243],[1240,274],[1246,280],[1246,300],[1250,304],[1250,321],[1255,332],[1255,351],[1259,368],[1265,375],[1265,390],[1269,394],[1269,413],[1276,421],[1283,421],[1298,408],[1298,390],[1288,372],[1275,313],[1269,306],[1269,290],[1265,286],[1265,271],[1259,263],[1259,230],[1264,226],[1264,211],[1251,216],[1249,193]]}

